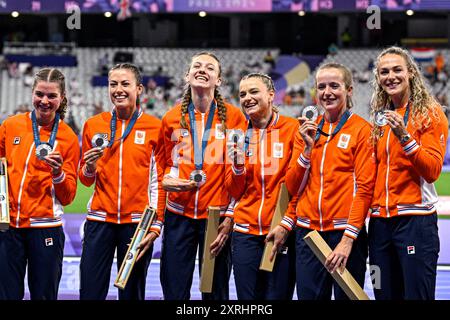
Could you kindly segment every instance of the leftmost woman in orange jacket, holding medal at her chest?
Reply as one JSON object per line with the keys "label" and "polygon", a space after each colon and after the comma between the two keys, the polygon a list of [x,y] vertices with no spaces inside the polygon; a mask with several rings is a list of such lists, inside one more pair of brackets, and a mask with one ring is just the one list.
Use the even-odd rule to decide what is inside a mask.
{"label": "leftmost woman in orange jacket, holding medal at her chest", "polygon": [[33,106],[0,127],[10,208],[9,230],[0,232],[0,300],[23,299],[26,269],[32,300],[57,299],[65,238],[61,216],[77,189],[80,147],[62,121],[67,98],[59,70],[36,74]]}

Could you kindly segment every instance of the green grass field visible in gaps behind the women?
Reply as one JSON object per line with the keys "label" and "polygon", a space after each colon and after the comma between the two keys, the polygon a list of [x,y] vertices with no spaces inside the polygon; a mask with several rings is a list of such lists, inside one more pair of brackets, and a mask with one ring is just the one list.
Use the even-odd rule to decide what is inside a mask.
{"label": "green grass field visible in gaps behind the women", "polygon": [[[436,190],[440,196],[450,196],[450,172],[442,172],[438,181],[435,183]],[[86,212],[86,204],[94,191],[91,187],[84,186],[78,181],[77,195],[73,203],[65,208],[66,213]]]}

